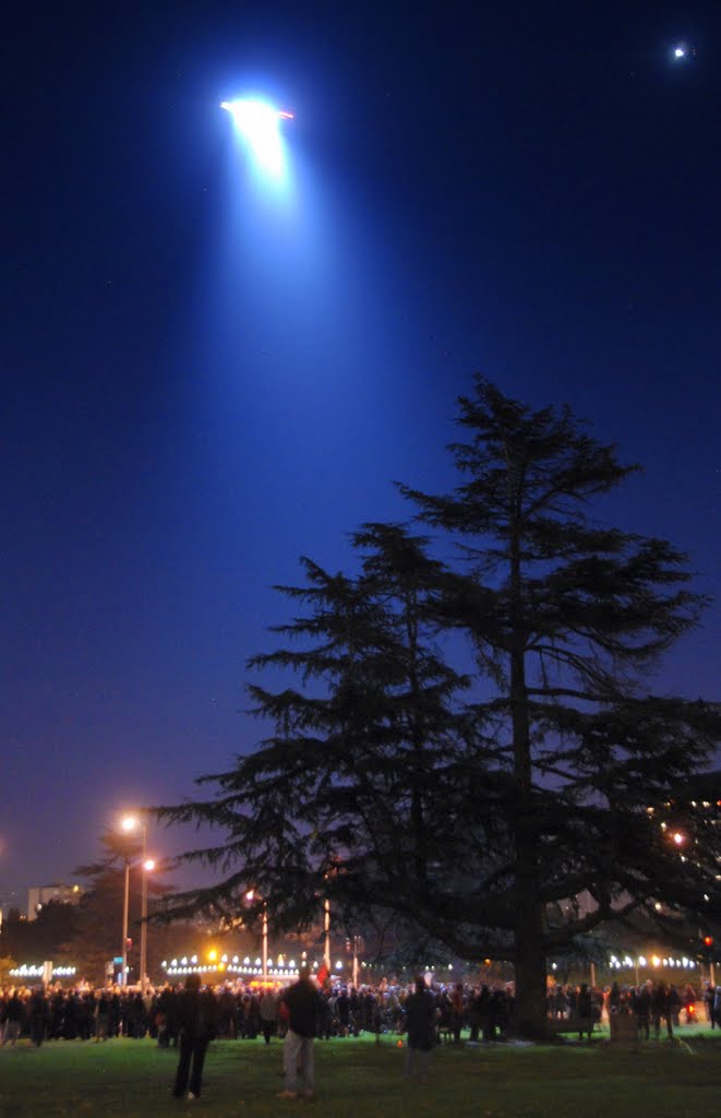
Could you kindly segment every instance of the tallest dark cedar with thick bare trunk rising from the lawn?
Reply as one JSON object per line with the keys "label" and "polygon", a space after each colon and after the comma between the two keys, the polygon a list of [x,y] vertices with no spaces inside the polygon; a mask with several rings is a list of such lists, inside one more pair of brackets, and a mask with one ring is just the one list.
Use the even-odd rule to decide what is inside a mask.
{"label": "tallest dark cedar with thick bare trunk rising from the lawn", "polygon": [[[450,447],[462,484],[442,496],[401,489],[464,557],[441,609],[494,683],[475,716],[499,747],[499,787],[506,778],[502,800],[486,804],[509,839],[486,922],[508,937],[517,1027],[535,1035],[549,953],[612,913],[655,911],[657,898],[698,908],[718,891],[718,851],[689,833],[682,860],[647,808],[708,760],[721,720],[718,705],[642,688],[705,603],[665,540],[590,521],[589,502],[635,467],[568,408],[531,411],[483,378],[474,387],[459,401],[470,440]],[[585,904],[561,906],[567,919],[549,918],[583,892]],[[435,931],[478,949],[450,926]]]}

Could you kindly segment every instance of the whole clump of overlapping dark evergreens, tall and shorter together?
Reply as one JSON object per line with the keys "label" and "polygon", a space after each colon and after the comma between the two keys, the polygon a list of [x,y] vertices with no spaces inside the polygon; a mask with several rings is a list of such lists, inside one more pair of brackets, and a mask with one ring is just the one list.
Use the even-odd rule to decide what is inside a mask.
{"label": "whole clump of overlapping dark evergreens, tall and shorter together", "polygon": [[[667,542],[590,520],[629,468],[568,409],[474,387],[469,440],[451,447],[461,484],[402,486],[458,561],[390,524],[353,537],[356,576],[305,560],[306,586],[281,588],[301,610],[277,629],[288,644],[252,661],[299,685],[253,685],[270,735],[205,778],[217,795],[161,815],[223,832],[189,858],[224,880],[179,897],[179,913],[232,918],[249,884],[286,923],[324,896],[393,910],[465,957],[511,959],[532,1035],[549,953],[612,912],[717,888],[714,852],[689,834],[682,862],[647,808],[704,762],[720,718],[644,689],[704,603]],[[472,681],[439,645],[454,633]]]}

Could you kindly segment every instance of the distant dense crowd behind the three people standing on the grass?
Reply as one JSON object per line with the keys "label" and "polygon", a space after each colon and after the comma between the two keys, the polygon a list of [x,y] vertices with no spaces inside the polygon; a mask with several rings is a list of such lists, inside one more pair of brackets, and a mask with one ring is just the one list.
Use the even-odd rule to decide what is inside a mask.
{"label": "distant dense crowd behind the three people standing on the grass", "polygon": [[[317,1035],[358,1036],[360,1033],[406,1031],[407,999],[414,984],[383,980],[377,986],[330,986],[320,993]],[[436,1043],[503,1040],[512,1025],[513,993],[510,984],[491,987],[468,984],[433,984],[434,1034]],[[215,1006],[214,1035],[227,1040],[252,1041],[285,1035],[279,1012],[280,987],[261,988],[242,982],[212,987]],[[2,1043],[28,1038],[45,1041],[107,1041],[115,1036],[142,1040],[151,1036],[162,1048],[176,1044],[180,1033],[181,985],[165,983],[143,994],[122,987],[97,988],[78,985],[63,988],[9,987],[0,992],[0,1036]],[[672,1033],[682,1022],[700,1020],[721,1029],[721,986],[708,985],[702,994],[691,986],[676,988],[664,983],[606,989],[585,985],[557,984],[549,989],[548,1016],[561,1024],[592,1016],[593,1022],[614,1014],[633,1014],[645,1036],[651,1029]]]}

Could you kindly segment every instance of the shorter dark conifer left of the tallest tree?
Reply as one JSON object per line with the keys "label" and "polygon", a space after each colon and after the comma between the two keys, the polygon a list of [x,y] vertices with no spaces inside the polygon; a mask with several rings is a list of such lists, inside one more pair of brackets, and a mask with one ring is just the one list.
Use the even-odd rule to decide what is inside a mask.
{"label": "shorter dark conifer left of the tallest tree", "polygon": [[283,647],[250,667],[290,671],[300,686],[249,686],[271,728],[260,748],[201,779],[218,796],[158,812],[220,827],[218,845],[188,858],[232,871],[179,896],[180,915],[211,908],[232,921],[252,887],[286,926],[313,921],[324,897],[412,916],[439,868],[463,856],[449,794],[470,795],[459,767],[482,745],[459,701],[469,681],[434,647],[441,565],[401,525],[367,524],[352,542],[357,576],[304,559],[306,585],[279,587],[298,616],[275,629]]}

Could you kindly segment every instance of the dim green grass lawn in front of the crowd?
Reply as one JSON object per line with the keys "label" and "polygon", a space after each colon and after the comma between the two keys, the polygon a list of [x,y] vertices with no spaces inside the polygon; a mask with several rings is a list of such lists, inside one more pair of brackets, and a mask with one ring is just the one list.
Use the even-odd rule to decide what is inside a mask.
{"label": "dim green grass lawn in front of the crowd", "polygon": [[174,1050],[152,1041],[27,1042],[0,1049],[0,1118],[185,1116],[269,1118],[313,1110],[328,1118],[710,1118],[721,1111],[721,1036],[617,1052],[605,1041],[558,1046],[442,1048],[426,1083],[404,1081],[397,1038],[316,1042],[317,1100],[276,1099],[281,1045],[219,1041],[203,1097],[176,1101]]}

